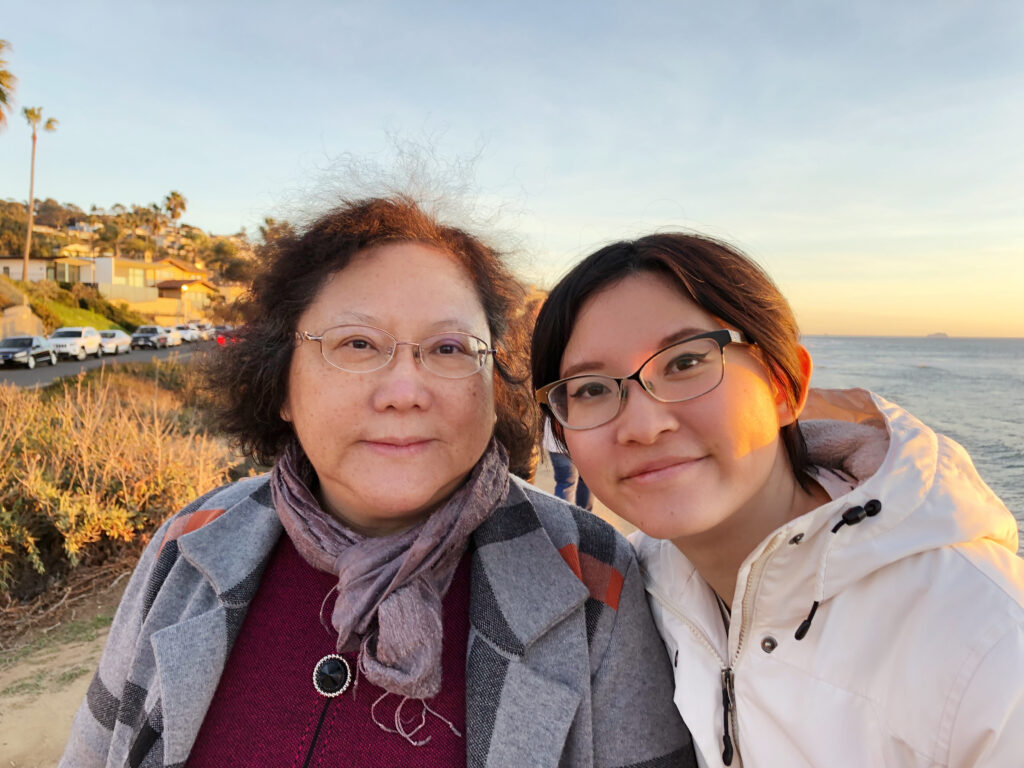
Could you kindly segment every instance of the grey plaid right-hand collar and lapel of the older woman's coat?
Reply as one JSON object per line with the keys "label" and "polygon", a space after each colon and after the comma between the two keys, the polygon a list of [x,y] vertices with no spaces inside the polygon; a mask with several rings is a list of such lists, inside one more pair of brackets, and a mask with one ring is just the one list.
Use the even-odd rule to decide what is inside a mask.
{"label": "grey plaid right-hand collar and lapel of the older woman's coat", "polygon": [[555,765],[589,688],[589,592],[515,482],[473,544],[470,764]]}

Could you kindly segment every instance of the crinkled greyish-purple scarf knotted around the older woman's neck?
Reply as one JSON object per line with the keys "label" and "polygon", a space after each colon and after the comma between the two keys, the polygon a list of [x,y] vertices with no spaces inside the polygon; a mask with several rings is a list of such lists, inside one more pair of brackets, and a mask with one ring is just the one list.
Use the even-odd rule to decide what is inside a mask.
{"label": "crinkled greyish-purple scarf knotted around the older woman's neck", "polygon": [[508,454],[492,439],[469,479],[423,522],[385,537],[356,534],[325,512],[315,473],[294,440],[270,473],[273,505],[302,558],[338,574],[331,623],[338,652],[359,648],[370,682],[410,698],[440,690],[441,599],[469,536],[508,495]]}

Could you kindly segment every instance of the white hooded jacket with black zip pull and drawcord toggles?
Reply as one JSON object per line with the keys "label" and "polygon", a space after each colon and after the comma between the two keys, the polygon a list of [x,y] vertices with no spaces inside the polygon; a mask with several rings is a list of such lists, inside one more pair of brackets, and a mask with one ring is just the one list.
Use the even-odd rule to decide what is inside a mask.
{"label": "white hooded jacket with black zip pull and drawcord toggles", "polygon": [[812,390],[801,428],[812,463],[855,487],[751,553],[728,630],[671,542],[632,538],[698,759],[1024,766],[1013,516],[963,447],[869,392]]}

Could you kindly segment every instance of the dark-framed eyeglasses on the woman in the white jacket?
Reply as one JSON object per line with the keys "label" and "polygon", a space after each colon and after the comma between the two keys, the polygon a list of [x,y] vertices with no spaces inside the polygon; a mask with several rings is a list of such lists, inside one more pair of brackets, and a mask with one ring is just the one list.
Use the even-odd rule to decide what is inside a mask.
{"label": "dark-framed eyeglasses on the woman in the white jacket", "polygon": [[637,382],[658,402],[708,394],[725,376],[725,347],[745,343],[742,334],[728,328],[698,334],[654,352],[629,376],[583,374],[546,384],[537,390],[537,401],[566,429],[593,429],[618,416],[628,381]]}

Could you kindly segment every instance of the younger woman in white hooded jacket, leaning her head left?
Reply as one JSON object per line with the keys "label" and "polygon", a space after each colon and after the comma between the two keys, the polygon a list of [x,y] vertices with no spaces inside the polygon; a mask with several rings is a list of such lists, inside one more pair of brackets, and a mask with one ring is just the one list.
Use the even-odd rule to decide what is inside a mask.
{"label": "younger woman in white hooded jacket, leaning her head left", "polygon": [[534,331],[538,400],[633,543],[701,764],[1024,760],[1017,523],[963,447],[811,391],[785,299],[696,234],[577,265]]}

